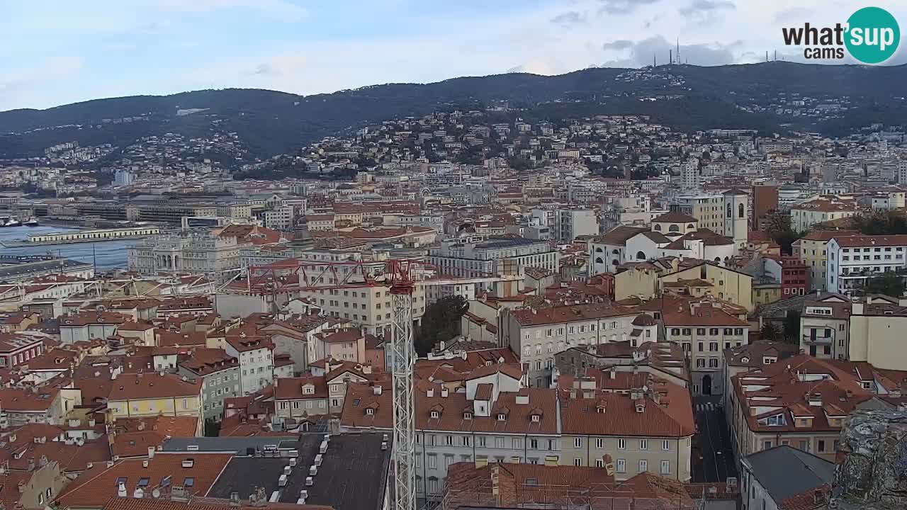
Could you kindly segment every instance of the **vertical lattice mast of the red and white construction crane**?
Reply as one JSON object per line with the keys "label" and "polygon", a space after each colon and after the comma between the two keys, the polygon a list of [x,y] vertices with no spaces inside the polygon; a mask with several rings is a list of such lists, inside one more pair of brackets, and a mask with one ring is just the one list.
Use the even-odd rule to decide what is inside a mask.
{"label": "vertical lattice mast of the red and white construction crane", "polygon": [[413,400],[413,276],[410,263],[392,260],[391,297],[394,302],[394,338],[391,369],[394,378],[394,488],[395,510],[415,510]]}

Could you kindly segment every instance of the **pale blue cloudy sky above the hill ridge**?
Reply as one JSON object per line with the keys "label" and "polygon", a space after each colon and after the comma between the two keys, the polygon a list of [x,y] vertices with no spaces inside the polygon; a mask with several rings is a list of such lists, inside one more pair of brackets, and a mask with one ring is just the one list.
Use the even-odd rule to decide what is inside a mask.
{"label": "pale blue cloudy sky above the hill ridge", "polygon": [[[781,28],[877,0],[3,0],[0,111],[210,88],[330,93],[668,61],[803,61]],[[907,34],[905,34],[907,36]],[[907,63],[907,43],[886,64]]]}

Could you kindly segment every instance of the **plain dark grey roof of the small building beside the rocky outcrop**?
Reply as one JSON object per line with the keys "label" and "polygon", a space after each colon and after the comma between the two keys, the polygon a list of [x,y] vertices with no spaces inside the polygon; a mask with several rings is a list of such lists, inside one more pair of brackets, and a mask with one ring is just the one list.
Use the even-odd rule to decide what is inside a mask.
{"label": "plain dark grey roof of the small building beside the rocky outcrop", "polygon": [[830,484],[834,464],[792,446],[775,446],[750,456],[744,464],[775,503]]}

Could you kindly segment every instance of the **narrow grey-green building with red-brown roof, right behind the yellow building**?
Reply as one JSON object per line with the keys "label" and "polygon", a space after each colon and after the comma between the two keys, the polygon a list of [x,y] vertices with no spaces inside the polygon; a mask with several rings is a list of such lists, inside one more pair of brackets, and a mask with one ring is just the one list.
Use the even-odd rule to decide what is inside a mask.
{"label": "narrow grey-green building with red-brown roof, right behind the yellow building", "polygon": [[201,417],[220,421],[224,398],[239,397],[239,359],[219,348],[193,348],[180,359],[177,374],[201,381]]}

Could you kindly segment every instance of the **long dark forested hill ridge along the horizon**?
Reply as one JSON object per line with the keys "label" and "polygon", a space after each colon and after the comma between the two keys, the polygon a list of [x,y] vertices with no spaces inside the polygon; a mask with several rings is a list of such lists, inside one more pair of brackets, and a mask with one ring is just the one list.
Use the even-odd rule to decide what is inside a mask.
{"label": "long dark forested hill ridge along the horizon", "polygon": [[[0,113],[0,158],[38,155],[62,142],[122,146],[151,134],[201,136],[214,130],[238,133],[251,155],[266,158],[368,123],[502,101],[527,109],[529,116],[548,119],[566,112],[646,113],[684,129],[768,131],[789,124],[837,135],[868,122],[901,123],[907,118],[902,98],[905,79],[907,66],[771,62],[590,68],[557,76],[497,74],[426,84],[387,83],[308,96],[226,89],[120,97]],[[846,98],[849,106],[834,119],[779,118],[766,112],[785,94],[829,101]],[[664,95],[683,99],[640,101]],[[569,103],[575,104],[566,106]],[[180,109],[200,111],[178,115]]]}

